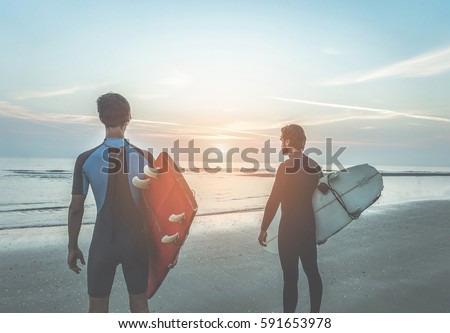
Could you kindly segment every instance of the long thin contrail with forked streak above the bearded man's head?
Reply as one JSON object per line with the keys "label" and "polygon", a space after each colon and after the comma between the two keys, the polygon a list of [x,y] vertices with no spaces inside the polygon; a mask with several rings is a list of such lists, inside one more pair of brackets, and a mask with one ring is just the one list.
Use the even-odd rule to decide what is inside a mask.
{"label": "long thin contrail with forked streak above the bearded man's head", "polygon": [[[433,122],[450,123],[450,119],[448,119],[448,118],[417,115],[417,114],[399,112],[399,111],[390,110],[390,109],[371,108],[371,107],[365,107],[365,106],[355,106],[355,105],[345,105],[345,104],[335,104],[335,103],[323,103],[323,102],[316,102],[316,101],[306,101],[306,100],[300,100],[300,99],[281,98],[281,97],[272,97],[272,96],[264,96],[264,98],[269,98],[269,99],[274,99],[274,100],[279,100],[279,101],[284,101],[284,102],[294,102],[294,103],[314,105],[314,106],[323,106],[323,107],[329,107],[329,108],[334,108],[334,109],[375,112],[378,114],[378,116],[370,117],[371,119],[388,119],[388,118],[405,117],[405,118],[413,118],[413,119],[427,120],[427,121],[433,121]],[[368,118],[367,115],[352,115],[352,116],[348,116],[348,117],[318,121],[317,123],[313,123],[311,125],[319,125],[319,124],[323,124],[323,123],[332,123],[332,122],[337,122],[337,121],[346,121],[346,120],[352,120],[352,119],[367,119],[367,118]]]}

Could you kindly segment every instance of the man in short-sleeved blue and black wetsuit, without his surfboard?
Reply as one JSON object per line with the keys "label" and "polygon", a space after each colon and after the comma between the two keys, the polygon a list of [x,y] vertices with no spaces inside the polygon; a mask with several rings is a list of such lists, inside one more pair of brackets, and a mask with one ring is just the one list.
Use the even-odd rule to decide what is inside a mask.
{"label": "man in short-sleeved blue and black wetsuit, without his surfboard", "polygon": [[85,263],[78,247],[78,235],[90,184],[97,218],[87,265],[89,312],[108,312],[118,264],[122,264],[131,312],[148,312],[147,238],[140,212],[140,192],[132,186],[131,179],[142,175],[151,157],[124,138],[131,119],[130,105],[124,97],[105,94],[97,99],[97,107],[106,136],[102,144],[79,155],[75,164],[67,263],[77,274],[81,270],[77,260]]}

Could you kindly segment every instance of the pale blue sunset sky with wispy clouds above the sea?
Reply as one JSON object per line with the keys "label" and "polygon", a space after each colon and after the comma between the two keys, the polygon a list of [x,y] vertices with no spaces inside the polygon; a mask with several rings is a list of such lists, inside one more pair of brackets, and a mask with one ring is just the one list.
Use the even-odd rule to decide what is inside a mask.
{"label": "pale blue sunset sky with wispy clouds above the sea", "polygon": [[448,17],[446,0],[1,1],[0,156],[75,158],[117,92],[155,151],[279,148],[297,123],[320,163],[449,167]]}

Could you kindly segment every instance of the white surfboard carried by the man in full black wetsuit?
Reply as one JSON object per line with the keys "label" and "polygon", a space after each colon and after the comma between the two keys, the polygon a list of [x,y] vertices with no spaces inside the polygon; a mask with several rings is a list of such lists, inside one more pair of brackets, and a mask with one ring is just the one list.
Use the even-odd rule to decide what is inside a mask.
{"label": "white surfboard carried by the man in full black wetsuit", "polygon": [[[323,190],[320,191],[319,188]],[[339,230],[357,219],[381,195],[383,178],[377,169],[361,164],[322,177],[313,194],[317,243],[322,244]],[[326,193],[323,193],[326,192]],[[267,229],[270,253],[278,253],[278,226],[281,209]]]}

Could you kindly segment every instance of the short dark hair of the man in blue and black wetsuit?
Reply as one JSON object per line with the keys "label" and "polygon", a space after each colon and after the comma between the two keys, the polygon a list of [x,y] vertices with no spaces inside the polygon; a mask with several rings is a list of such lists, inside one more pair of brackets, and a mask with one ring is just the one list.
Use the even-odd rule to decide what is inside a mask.
{"label": "short dark hair of the man in blue and black wetsuit", "polygon": [[119,127],[130,121],[130,104],[122,95],[107,93],[97,99],[97,111],[106,127]]}

